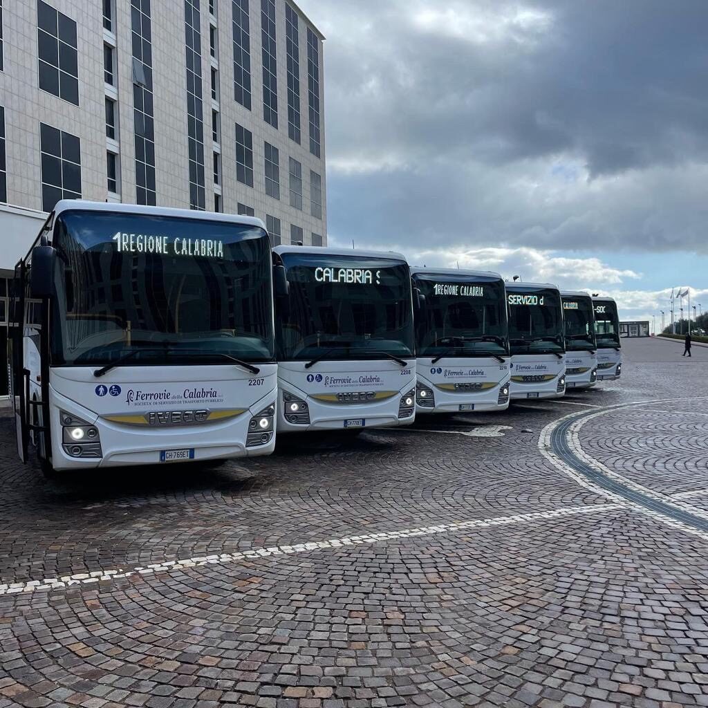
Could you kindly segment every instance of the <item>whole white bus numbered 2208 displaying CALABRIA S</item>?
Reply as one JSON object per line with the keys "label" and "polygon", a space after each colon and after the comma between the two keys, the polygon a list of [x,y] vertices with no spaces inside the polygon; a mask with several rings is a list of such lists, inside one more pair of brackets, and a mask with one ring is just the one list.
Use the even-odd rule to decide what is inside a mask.
{"label": "whole white bus numbered 2208 displaying CALABRIA S", "polygon": [[278,246],[273,268],[278,431],[413,422],[416,358],[405,258]]}

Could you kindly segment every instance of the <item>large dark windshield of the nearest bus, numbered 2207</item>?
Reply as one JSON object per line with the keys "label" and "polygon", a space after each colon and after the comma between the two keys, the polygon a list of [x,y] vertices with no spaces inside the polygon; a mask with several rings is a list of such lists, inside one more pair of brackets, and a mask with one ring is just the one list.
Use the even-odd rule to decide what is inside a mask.
{"label": "large dark windshield of the nearest bus, numbered 2207", "polygon": [[77,210],[57,217],[54,246],[52,364],[274,360],[263,229]]}

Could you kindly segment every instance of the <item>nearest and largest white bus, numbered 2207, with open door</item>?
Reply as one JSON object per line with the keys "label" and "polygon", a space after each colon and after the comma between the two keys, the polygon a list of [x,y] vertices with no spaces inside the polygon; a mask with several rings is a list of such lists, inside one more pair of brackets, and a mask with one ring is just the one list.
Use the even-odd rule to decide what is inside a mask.
{"label": "nearest and largest white bus, numbered 2207, with open door", "polygon": [[15,270],[18,452],[57,470],[266,455],[277,365],[259,219],[60,201]]}

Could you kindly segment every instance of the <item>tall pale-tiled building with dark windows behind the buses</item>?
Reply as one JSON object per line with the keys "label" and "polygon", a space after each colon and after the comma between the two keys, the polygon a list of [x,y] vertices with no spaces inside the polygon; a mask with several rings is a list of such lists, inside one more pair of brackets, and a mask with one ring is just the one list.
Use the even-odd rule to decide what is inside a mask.
{"label": "tall pale-tiled building with dark windows behind the buses", "polygon": [[325,245],[323,40],[292,0],[0,0],[0,346],[18,224],[61,198]]}

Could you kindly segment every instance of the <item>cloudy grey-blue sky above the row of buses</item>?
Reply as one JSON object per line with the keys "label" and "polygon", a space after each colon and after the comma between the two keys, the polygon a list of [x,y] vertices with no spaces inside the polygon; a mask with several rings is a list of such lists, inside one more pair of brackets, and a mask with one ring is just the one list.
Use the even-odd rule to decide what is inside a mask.
{"label": "cloudy grey-blue sky above the row of buses", "polygon": [[300,0],[331,245],[708,309],[705,0]]}

